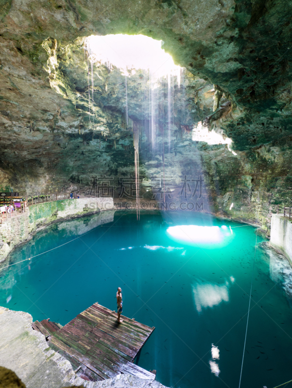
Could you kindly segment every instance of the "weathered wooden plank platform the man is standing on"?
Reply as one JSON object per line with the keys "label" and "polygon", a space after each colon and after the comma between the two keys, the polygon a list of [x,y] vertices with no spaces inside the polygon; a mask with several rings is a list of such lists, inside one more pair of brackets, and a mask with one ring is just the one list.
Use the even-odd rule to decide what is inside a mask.
{"label": "weathered wooden plank platform the man is standing on", "polygon": [[33,328],[46,336],[48,344],[67,358],[85,380],[99,381],[120,373],[154,379],[155,374],[133,363],[155,327],[121,316],[95,303],[65,326],[44,320]]}

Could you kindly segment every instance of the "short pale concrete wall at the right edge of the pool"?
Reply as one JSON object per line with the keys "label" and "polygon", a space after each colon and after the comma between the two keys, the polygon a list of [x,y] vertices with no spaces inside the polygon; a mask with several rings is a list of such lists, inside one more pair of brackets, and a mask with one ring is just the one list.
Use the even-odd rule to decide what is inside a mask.
{"label": "short pale concrete wall at the right edge of the pool", "polygon": [[292,219],[281,214],[272,215],[271,245],[280,250],[292,264]]}

